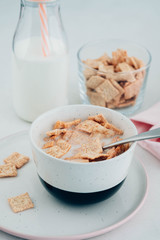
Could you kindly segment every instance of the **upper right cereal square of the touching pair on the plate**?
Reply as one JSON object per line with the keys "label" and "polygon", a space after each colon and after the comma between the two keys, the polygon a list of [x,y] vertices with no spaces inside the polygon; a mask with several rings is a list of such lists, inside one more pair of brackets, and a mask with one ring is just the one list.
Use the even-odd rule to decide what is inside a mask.
{"label": "upper right cereal square of the touching pair on the plate", "polygon": [[29,157],[24,156],[18,152],[12,153],[9,157],[4,159],[5,163],[12,163],[16,166],[16,168],[21,168],[29,161]]}

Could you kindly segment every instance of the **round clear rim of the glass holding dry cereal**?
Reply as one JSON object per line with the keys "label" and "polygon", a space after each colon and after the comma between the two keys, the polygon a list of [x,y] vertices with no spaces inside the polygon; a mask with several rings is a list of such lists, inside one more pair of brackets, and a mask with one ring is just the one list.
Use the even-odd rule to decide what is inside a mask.
{"label": "round clear rim of the glass holding dry cereal", "polygon": [[[95,72],[98,72],[98,73],[101,73],[101,74],[106,74],[107,72],[103,72],[103,71],[97,70],[97,69],[95,69],[95,68],[93,68],[93,67],[90,67],[90,66],[88,66],[87,64],[83,63],[82,60],[81,60],[81,58],[80,58],[80,53],[81,53],[81,51],[82,51],[83,49],[85,49],[86,47],[91,46],[91,45],[93,45],[93,44],[102,43],[102,42],[106,42],[106,41],[115,41],[115,40],[116,40],[116,41],[128,42],[128,43],[130,43],[130,44],[137,45],[138,47],[143,48],[143,49],[146,51],[146,53],[148,54],[148,62],[147,62],[147,64],[146,64],[144,67],[142,67],[142,68],[139,68],[139,69],[136,69],[136,70],[133,70],[133,71],[129,71],[129,72],[114,72],[114,73],[112,73],[113,75],[117,75],[117,74],[118,74],[118,75],[125,75],[125,74],[128,74],[128,73],[138,73],[138,72],[141,72],[141,71],[143,71],[143,70],[146,70],[147,68],[150,67],[151,61],[152,61],[152,56],[151,56],[150,51],[149,51],[145,46],[137,43],[136,41],[127,40],[127,39],[121,39],[121,38],[97,39],[97,40],[94,40],[94,41],[93,41],[93,40],[88,41],[87,43],[83,44],[83,45],[79,48],[79,50],[77,51],[77,59],[78,59],[79,64],[82,65],[83,67],[89,68],[89,69],[91,69],[91,70],[93,70],[93,71],[95,71]],[[110,73],[110,72],[108,71],[108,73]]]}

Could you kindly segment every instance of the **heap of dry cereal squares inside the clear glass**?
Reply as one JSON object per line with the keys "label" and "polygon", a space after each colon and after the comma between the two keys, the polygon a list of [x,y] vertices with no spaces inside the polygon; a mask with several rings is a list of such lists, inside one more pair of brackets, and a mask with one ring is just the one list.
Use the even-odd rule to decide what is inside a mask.
{"label": "heap of dry cereal squares inside the clear glass", "polygon": [[141,69],[145,66],[143,61],[129,57],[126,50],[117,49],[112,57],[104,54],[83,63],[86,64],[86,93],[91,104],[108,108],[135,104],[145,77],[145,70]]}

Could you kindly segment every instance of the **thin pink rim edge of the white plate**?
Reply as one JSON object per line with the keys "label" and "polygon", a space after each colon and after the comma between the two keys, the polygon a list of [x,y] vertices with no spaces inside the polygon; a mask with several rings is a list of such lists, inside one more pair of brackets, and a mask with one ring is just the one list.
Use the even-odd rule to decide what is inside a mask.
{"label": "thin pink rim edge of the white plate", "polygon": [[[6,138],[12,137],[14,135],[25,134],[27,132],[28,132],[28,130],[19,131],[19,132],[16,132],[16,133],[13,133],[11,135],[8,135],[6,137],[1,138],[0,141],[3,141]],[[106,227],[106,228],[103,228],[101,230],[94,231],[94,232],[91,232],[91,233],[85,233],[85,234],[74,235],[74,236],[66,236],[66,237],[52,237],[52,236],[50,236],[50,237],[45,237],[44,238],[44,237],[39,237],[39,236],[38,237],[32,236],[32,235],[29,235],[29,234],[25,235],[23,233],[18,233],[16,231],[10,231],[7,228],[3,228],[3,227],[0,227],[0,230],[8,233],[10,235],[13,235],[13,236],[16,236],[16,237],[21,237],[21,238],[24,238],[24,239],[30,239],[30,240],[81,240],[81,239],[86,239],[86,238],[97,237],[97,236],[103,235],[107,232],[110,232],[110,231],[114,230],[114,229],[120,227],[121,225],[123,225],[124,223],[128,222],[140,210],[140,208],[143,206],[143,204],[146,200],[146,197],[148,195],[148,174],[147,174],[147,171],[146,171],[142,161],[141,160],[138,160],[138,161],[141,163],[141,165],[143,167],[143,170],[145,172],[145,176],[146,176],[146,191],[145,191],[145,194],[142,198],[142,201],[138,205],[138,207],[130,215],[128,215],[123,220],[117,222],[116,224],[113,224],[109,227]]]}

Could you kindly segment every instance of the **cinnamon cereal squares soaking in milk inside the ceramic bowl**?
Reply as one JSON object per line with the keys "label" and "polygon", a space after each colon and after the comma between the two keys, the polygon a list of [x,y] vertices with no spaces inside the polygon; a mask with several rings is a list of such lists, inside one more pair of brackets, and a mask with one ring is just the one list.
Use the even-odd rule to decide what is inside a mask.
{"label": "cinnamon cereal squares soaking in milk inside the ceramic bowl", "polygon": [[52,134],[48,134],[49,132],[65,131],[61,131],[63,134],[54,136],[53,146],[50,146],[48,141],[42,148],[47,154],[56,158],[83,163],[95,162],[118,156],[129,148],[129,145],[123,144],[103,152],[102,147],[106,139],[115,142],[120,140],[120,135],[123,135],[123,130],[110,123],[103,114],[89,116],[86,120],[57,121],[54,124],[55,127],[58,129],[46,133],[49,138],[53,137]]}

